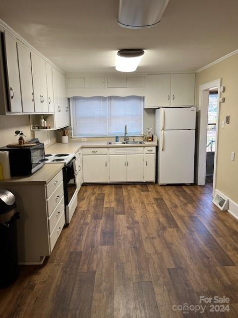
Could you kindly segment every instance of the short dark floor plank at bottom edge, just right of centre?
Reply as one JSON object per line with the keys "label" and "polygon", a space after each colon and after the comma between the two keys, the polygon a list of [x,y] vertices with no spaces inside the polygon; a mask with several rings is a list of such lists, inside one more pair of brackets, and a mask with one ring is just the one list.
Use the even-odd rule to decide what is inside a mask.
{"label": "short dark floor plank at bottom edge, just right of centre", "polygon": [[137,318],[160,318],[151,282],[134,282],[135,308]]}

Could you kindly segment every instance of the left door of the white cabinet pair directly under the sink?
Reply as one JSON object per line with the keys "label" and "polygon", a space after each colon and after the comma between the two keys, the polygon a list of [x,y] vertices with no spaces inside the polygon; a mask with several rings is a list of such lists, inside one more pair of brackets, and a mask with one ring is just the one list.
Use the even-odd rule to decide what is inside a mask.
{"label": "left door of the white cabinet pair directly under the sink", "polygon": [[126,155],[110,156],[110,182],[126,181]]}

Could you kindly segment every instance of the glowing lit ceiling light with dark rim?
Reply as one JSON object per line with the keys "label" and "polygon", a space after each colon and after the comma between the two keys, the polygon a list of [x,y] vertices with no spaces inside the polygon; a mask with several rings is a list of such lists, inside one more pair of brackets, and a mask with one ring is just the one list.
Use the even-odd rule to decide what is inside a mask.
{"label": "glowing lit ceiling light with dark rim", "polygon": [[145,51],[141,49],[119,50],[116,58],[116,70],[119,72],[134,72]]}

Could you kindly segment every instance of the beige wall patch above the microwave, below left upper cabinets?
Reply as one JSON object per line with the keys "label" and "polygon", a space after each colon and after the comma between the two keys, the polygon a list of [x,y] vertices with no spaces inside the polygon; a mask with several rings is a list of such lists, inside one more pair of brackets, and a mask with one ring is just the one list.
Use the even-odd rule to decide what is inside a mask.
{"label": "beige wall patch above the microwave, below left upper cabinets", "polygon": [[16,130],[24,131],[25,140],[34,137],[30,130],[29,115],[0,115],[0,147],[18,142],[18,138],[14,137]]}

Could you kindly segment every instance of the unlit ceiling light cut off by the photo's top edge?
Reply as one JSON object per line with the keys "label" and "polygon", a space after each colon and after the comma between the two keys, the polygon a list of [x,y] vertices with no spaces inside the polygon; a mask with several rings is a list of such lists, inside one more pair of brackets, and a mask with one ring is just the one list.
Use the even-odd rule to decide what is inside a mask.
{"label": "unlit ceiling light cut off by the photo's top edge", "polygon": [[159,23],[169,0],[120,0],[118,23],[130,29]]}

